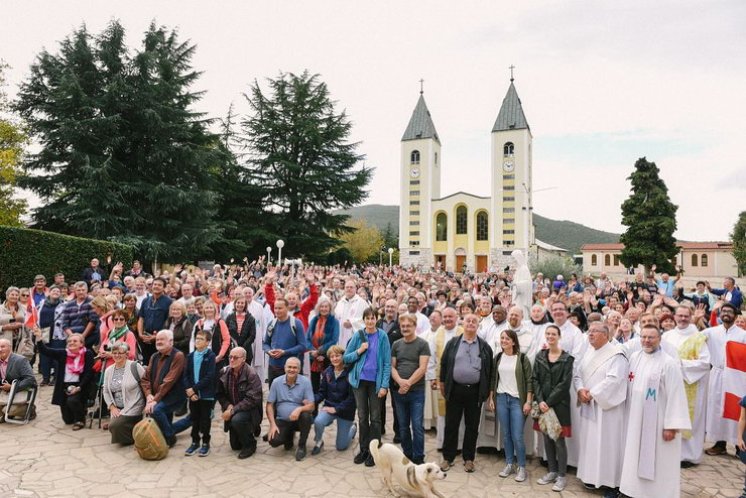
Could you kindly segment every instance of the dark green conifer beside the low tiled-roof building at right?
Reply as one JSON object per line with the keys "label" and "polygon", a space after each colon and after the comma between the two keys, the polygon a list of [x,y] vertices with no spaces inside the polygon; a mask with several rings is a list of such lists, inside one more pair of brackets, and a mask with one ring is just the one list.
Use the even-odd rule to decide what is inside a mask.
{"label": "dark green conifer beside the low tiled-roof building at right", "polygon": [[668,197],[668,188],[658,176],[658,167],[644,157],[635,162],[627,178],[632,194],[622,203],[622,224],[627,230],[620,237],[624,244],[621,260],[625,266],[657,265],[662,272],[675,271],[671,261],[678,254],[676,211]]}

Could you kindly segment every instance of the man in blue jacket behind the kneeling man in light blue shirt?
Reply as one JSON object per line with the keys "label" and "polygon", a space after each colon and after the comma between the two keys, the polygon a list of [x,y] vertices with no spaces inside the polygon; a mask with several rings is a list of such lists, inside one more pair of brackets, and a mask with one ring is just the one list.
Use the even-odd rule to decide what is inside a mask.
{"label": "man in blue jacket behind the kneeling man in light blue shirt", "polygon": [[288,303],[284,298],[275,300],[275,316],[277,319],[267,327],[262,343],[262,349],[269,355],[267,382],[270,385],[285,372],[285,362],[289,358],[300,360],[308,350],[303,323],[290,316]]}

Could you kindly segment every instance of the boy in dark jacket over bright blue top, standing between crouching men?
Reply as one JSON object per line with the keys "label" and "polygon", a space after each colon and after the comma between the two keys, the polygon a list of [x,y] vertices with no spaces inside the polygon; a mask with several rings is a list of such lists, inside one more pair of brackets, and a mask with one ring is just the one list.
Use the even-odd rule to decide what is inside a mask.
{"label": "boy in dark jacket over bright blue top, standing between crouching men", "polygon": [[[189,353],[184,368],[184,385],[189,400],[189,417],[192,421],[192,445],[184,454],[210,454],[210,423],[215,406],[216,365],[215,353],[210,348],[212,334],[200,330],[194,337],[195,350]],[[202,446],[200,447],[200,435]]]}

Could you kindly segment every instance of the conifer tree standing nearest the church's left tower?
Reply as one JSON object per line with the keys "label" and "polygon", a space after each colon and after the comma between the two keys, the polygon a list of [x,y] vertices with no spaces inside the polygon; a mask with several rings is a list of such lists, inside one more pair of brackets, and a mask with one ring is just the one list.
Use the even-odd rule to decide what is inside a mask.
{"label": "conifer tree standing nearest the church's left tower", "polygon": [[352,124],[318,75],[282,73],[267,83],[267,92],[255,81],[246,95],[248,177],[261,192],[270,240],[284,239],[288,256],[322,256],[338,244],[335,234],[349,231],[332,210],[367,197],[372,169],[359,165]]}

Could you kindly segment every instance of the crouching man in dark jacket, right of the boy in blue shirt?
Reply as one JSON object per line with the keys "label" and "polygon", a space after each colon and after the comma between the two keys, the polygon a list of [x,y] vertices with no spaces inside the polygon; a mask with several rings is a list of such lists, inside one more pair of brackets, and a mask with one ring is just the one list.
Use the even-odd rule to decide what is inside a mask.
{"label": "crouching man in dark jacket, right of the boy in blue shirt", "polygon": [[244,348],[233,348],[228,355],[228,366],[218,378],[216,397],[223,410],[231,449],[240,450],[239,459],[249,458],[256,452],[256,436],[262,423],[262,381],[246,363]]}

